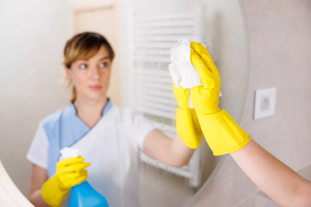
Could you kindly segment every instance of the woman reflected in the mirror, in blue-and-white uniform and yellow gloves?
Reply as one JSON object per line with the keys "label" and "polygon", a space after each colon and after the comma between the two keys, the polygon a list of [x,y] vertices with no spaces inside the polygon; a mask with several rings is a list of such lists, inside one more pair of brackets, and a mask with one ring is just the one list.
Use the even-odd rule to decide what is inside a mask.
{"label": "woman reflected in the mirror, in blue-and-white uniform and yellow gloves", "polygon": [[[110,102],[106,93],[114,51],[103,36],[77,34],[67,42],[64,58],[74,85],[72,99],[40,122],[30,146],[30,202],[67,206],[71,187],[87,179],[110,206],[139,206],[139,149],[168,165],[183,166],[202,141],[196,113],[188,108],[188,90],[174,87],[177,135],[170,139],[142,115]],[[78,149],[81,157],[59,161],[64,147]]]}

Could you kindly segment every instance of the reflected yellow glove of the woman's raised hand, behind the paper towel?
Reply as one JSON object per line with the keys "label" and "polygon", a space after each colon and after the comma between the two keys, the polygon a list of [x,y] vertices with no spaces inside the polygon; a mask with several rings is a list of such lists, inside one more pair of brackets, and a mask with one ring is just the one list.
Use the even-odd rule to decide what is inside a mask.
{"label": "reflected yellow glove of the woman's raised hand, behind the paper towel", "polygon": [[195,149],[200,146],[203,134],[195,110],[188,107],[188,89],[176,88],[173,84],[173,91],[178,102],[177,134],[188,147]]}

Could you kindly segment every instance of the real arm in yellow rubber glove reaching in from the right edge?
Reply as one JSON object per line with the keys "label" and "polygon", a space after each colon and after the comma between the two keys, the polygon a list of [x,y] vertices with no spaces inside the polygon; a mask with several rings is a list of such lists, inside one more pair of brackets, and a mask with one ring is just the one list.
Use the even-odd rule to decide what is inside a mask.
{"label": "real arm in yellow rubber glove reaching in from the right edge", "polygon": [[310,207],[311,182],[277,160],[218,107],[220,75],[207,49],[191,43],[190,60],[202,86],[191,88],[191,100],[214,155],[230,154],[250,179],[283,207]]}

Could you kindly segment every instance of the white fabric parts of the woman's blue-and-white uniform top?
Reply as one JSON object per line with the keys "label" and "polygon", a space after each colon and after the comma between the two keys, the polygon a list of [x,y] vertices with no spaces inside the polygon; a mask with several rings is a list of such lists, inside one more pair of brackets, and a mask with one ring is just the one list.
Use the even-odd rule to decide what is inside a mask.
{"label": "white fabric parts of the woman's blue-and-white uniform top", "polygon": [[[88,182],[101,193],[110,207],[139,206],[139,148],[154,128],[151,121],[131,110],[113,106],[89,133],[72,145],[91,166]],[[38,131],[41,131],[40,129]],[[44,135],[37,133],[36,136]],[[35,141],[36,140],[36,141]],[[27,155],[33,163],[47,165],[39,158],[37,147],[44,146],[47,156],[47,137],[35,137]],[[31,159],[32,158],[32,159]],[[60,159],[62,159],[60,157]],[[63,206],[67,206],[69,196]]]}

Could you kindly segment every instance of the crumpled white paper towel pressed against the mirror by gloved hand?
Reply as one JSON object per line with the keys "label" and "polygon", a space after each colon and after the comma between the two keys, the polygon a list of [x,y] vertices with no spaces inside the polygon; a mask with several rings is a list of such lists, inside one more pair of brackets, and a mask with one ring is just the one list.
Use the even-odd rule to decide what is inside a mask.
{"label": "crumpled white paper towel pressed against the mirror by gloved hand", "polygon": [[[204,45],[204,47],[206,46]],[[202,86],[202,83],[197,69],[195,69],[190,61],[190,50],[190,41],[186,38],[179,38],[177,44],[169,50],[172,61],[169,64],[169,73],[177,88],[181,86],[184,89],[189,89],[188,107],[193,108],[190,98],[190,88]],[[221,93],[219,96],[222,96]]]}

